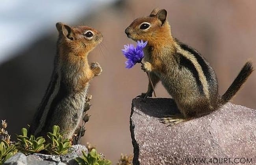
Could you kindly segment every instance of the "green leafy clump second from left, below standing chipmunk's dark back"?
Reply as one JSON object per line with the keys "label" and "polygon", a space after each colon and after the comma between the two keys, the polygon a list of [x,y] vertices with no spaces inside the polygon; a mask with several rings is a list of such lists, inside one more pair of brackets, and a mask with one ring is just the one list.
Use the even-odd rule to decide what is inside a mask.
{"label": "green leafy clump second from left, below standing chipmunk's dark back", "polygon": [[19,152],[22,152],[25,155],[39,153],[40,151],[45,150],[49,145],[45,145],[45,138],[43,137],[35,138],[34,135],[30,135],[30,137],[28,137],[28,131],[26,128],[22,128],[21,133],[22,135],[17,136],[17,140],[19,142],[16,143],[16,147]]}

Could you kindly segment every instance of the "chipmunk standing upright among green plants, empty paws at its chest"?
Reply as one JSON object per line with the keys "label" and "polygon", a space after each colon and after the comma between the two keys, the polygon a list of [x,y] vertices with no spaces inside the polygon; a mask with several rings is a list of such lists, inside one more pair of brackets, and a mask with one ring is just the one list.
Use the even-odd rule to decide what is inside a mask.
{"label": "chipmunk standing upright among green plants, empty paws at its chest", "polygon": [[102,41],[102,33],[88,26],[56,23],[59,32],[54,70],[45,96],[35,113],[29,133],[46,136],[58,125],[64,138],[71,138],[82,117],[89,82],[100,75],[96,62],[87,56]]}

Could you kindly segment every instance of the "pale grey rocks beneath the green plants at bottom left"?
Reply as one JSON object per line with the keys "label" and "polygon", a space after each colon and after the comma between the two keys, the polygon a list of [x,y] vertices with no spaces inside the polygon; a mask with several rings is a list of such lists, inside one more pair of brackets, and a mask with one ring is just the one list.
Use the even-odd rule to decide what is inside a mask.
{"label": "pale grey rocks beneath the green plants at bottom left", "polygon": [[33,154],[25,156],[18,152],[9,158],[4,165],[77,165],[74,158],[82,156],[82,150],[88,154],[88,149],[83,145],[73,145],[72,152],[66,155]]}

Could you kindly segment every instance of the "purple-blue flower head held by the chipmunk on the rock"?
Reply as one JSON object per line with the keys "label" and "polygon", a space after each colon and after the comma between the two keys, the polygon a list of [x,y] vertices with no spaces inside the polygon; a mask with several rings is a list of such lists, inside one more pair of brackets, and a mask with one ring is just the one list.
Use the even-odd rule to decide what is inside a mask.
{"label": "purple-blue flower head held by the chipmunk on the rock", "polygon": [[141,60],[144,57],[143,48],[146,47],[148,41],[143,42],[137,41],[136,48],[133,44],[124,45],[124,49],[122,49],[122,53],[124,54],[124,57],[127,58],[127,61],[125,62],[126,68],[130,69],[132,68],[136,63],[140,63]]}

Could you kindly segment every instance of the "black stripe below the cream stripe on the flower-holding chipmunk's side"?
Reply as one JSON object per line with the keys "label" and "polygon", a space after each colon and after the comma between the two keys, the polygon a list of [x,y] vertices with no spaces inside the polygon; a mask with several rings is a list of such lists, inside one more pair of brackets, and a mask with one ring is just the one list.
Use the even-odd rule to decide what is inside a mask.
{"label": "black stripe below the cream stripe on the flower-holding chipmunk's side", "polygon": [[177,55],[179,56],[179,59],[180,59],[179,60],[180,67],[185,67],[187,70],[189,70],[193,74],[193,77],[195,77],[197,87],[199,89],[200,94],[204,95],[203,85],[199,79],[199,75],[198,75],[195,65],[189,59],[187,59],[185,56],[183,56],[182,54],[178,53]]}

